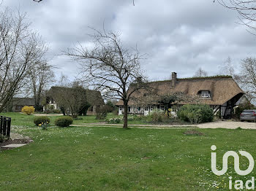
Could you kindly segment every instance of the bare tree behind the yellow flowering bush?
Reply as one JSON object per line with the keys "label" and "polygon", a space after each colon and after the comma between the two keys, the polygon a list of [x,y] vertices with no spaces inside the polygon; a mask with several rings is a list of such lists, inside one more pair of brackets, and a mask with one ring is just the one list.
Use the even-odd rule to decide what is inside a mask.
{"label": "bare tree behind the yellow flowering bush", "polygon": [[29,88],[31,88],[36,110],[40,110],[42,95],[55,81],[53,66],[44,61],[34,64],[29,71]]}

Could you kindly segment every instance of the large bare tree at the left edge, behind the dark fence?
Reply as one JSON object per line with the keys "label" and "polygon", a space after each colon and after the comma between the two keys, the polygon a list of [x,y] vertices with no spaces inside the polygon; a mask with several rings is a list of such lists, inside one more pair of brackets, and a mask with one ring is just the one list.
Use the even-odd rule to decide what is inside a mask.
{"label": "large bare tree at the left edge, behind the dark fence", "polygon": [[0,12],[0,112],[26,84],[29,71],[42,58],[38,35],[26,23],[26,15]]}

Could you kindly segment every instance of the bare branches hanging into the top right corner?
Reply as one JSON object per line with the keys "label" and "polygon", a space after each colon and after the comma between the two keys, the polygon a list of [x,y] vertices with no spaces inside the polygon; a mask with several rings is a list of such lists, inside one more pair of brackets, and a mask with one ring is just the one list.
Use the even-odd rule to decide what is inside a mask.
{"label": "bare branches hanging into the top right corner", "polygon": [[[215,0],[214,0],[215,1]],[[222,6],[233,9],[238,12],[241,24],[248,26],[250,29],[255,30],[256,21],[256,1],[245,0],[217,0]]]}

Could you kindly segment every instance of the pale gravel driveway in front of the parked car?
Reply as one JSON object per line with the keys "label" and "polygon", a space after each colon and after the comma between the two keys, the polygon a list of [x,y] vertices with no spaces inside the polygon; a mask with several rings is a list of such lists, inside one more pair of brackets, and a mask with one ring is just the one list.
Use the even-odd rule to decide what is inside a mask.
{"label": "pale gravel driveway in front of the parked car", "polygon": [[206,122],[196,125],[198,128],[244,128],[244,129],[256,129],[256,122],[235,122],[235,121],[217,121]]}

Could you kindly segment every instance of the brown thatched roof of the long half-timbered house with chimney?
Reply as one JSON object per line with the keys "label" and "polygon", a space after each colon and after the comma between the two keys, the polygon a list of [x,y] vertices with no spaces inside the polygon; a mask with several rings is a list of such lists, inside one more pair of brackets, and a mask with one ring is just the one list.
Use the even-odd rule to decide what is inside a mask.
{"label": "brown thatched roof of the long half-timbered house with chimney", "polygon": [[[240,98],[244,92],[236,84],[232,77],[216,76],[216,77],[194,77],[186,79],[176,79],[176,85],[172,87],[172,80],[148,82],[151,93],[148,90],[139,90],[132,95],[129,105],[136,105],[135,99],[147,99],[151,95],[167,95],[173,93],[184,93],[185,95],[195,97],[202,90],[208,90],[211,98],[200,98],[202,104],[222,105],[235,96]],[[181,103],[180,103],[181,104]],[[191,104],[186,103],[182,104]],[[123,105],[123,101],[119,100],[117,106]]]}

